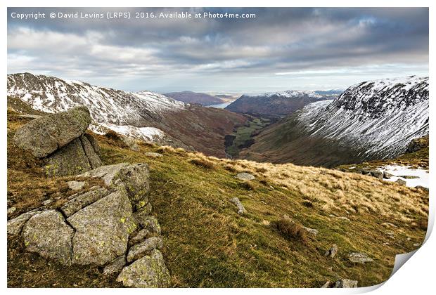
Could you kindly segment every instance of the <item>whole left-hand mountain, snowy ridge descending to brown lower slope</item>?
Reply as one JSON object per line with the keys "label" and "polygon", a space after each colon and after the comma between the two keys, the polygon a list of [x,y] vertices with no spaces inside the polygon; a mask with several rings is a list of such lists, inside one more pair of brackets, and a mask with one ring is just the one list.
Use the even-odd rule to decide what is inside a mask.
{"label": "whole left-hand mountain, snowy ridge descending to brown lower slope", "polygon": [[[90,129],[184,147],[224,157],[224,136],[245,117],[226,110],[188,105],[158,93],[133,93],[44,75],[8,74],[8,100],[20,100],[40,112],[86,105]],[[9,103],[11,104],[11,103]],[[22,104],[21,104],[22,105]]]}

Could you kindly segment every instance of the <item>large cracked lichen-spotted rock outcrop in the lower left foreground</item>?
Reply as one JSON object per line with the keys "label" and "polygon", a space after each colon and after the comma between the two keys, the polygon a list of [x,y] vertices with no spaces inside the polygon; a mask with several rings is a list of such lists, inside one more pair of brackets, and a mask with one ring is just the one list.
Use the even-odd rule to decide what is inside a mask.
{"label": "large cracked lichen-spotted rock outcrop in the lower left foreground", "polygon": [[[168,287],[162,229],[151,216],[147,164],[101,166],[77,176],[101,178],[53,209],[29,211],[8,221],[8,235],[21,235],[28,251],[65,265],[103,266],[129,287]],[[73,185],[73,188],[74,185]]]}

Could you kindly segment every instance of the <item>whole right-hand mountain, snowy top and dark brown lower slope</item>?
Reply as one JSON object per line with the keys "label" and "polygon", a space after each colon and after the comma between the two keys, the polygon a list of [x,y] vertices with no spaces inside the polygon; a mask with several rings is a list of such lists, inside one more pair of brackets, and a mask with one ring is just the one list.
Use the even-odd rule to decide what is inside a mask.
{"label": "whole right-hand mountain, snowy top and dark brown lower slope", "polygon": [[365,81],[269,126],[240,155],[335,166],[396,157],[428,134],[428,77]]}

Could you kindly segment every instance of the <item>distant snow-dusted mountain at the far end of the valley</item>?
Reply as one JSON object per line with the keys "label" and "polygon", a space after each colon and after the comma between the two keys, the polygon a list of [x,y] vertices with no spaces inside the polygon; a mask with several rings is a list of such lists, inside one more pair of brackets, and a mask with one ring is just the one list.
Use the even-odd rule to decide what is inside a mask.
{"label": "distant snow-dusted mountain at the far end of the valley", "polygon": [[304,105],[325,100],[313,91],[283,91],[259,96],[243,95],[226,107],[232,112],[264,117],[280,117],[300,110]]}

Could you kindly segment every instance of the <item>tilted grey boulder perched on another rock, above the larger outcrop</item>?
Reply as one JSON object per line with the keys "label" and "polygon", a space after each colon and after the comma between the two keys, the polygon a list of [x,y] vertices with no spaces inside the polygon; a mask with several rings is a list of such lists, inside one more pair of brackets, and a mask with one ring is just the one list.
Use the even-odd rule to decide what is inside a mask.
{"label": "tilted grey boulder perched on another rock, above the larger outcrop", "polygon": [[96,140],[86,134],[86,107],[38,117],[15,133],[13,143],[44,159],[48,176],[70,176],[101,166]]}

